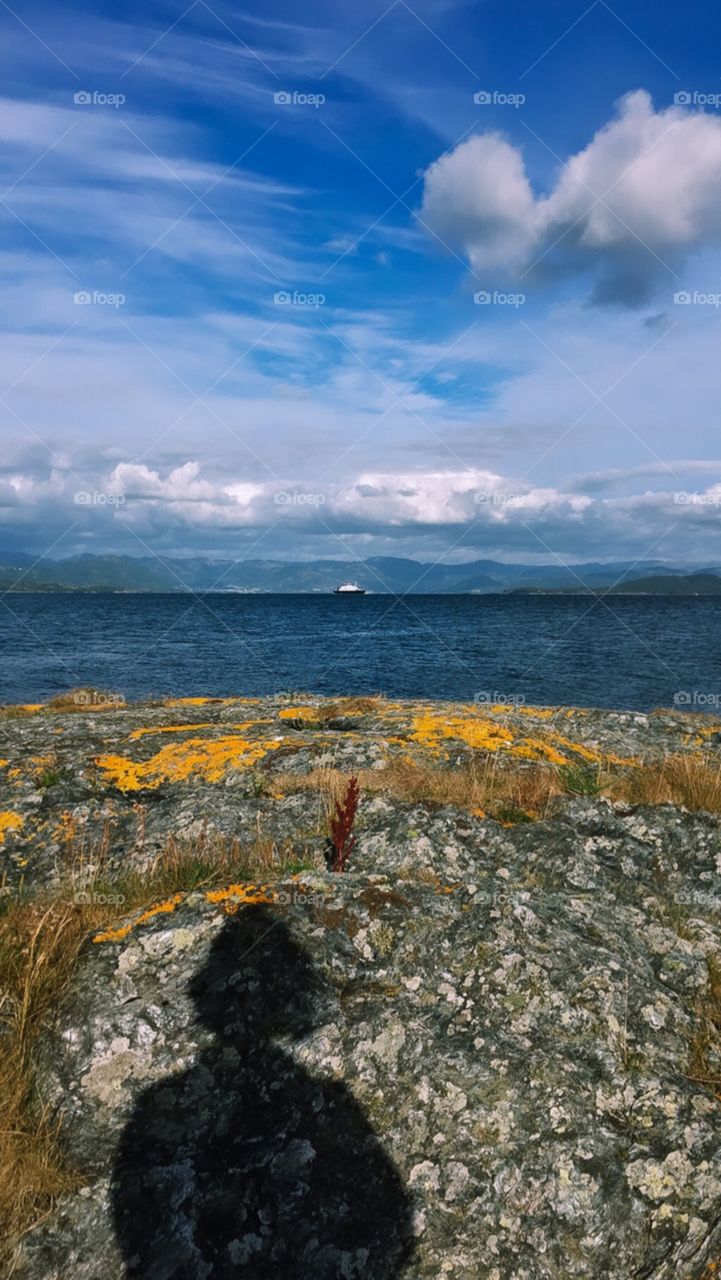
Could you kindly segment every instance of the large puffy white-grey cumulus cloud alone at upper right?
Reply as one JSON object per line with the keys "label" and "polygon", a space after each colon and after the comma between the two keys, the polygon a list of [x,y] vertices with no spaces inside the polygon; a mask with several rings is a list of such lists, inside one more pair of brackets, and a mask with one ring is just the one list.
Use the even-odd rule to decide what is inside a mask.
{"label": "large puffy white-grey cumulus cloud alone at upper right", "polygon": [[688,255],[721,243],[721,120],[628,93],[546,195],[519,147],[475,136],[428,169],[423,220],[476,273],[589,271],[597,300],[642,302]]}

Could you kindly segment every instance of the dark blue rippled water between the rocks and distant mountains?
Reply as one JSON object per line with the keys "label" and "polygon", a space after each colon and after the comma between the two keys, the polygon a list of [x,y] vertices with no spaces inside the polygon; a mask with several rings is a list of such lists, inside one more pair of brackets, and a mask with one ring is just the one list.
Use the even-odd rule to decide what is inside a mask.
{"label": "dark blue rippled water between the rocks and distant mountains", "polygon": [[4,703],[77,685],[128,699],[487,694],[639,710],[677,694],[716,710],[721,694],[713,598],[13,594],[0,605]]}

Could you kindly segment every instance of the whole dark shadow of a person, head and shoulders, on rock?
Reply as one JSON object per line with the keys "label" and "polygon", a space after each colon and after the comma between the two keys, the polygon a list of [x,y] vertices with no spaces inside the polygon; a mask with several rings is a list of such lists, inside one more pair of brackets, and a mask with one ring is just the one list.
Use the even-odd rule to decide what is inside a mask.
{"label": "whole dark shadow of a person, head and shoulders, on rock", "polygon": [[328,1020],[329,992],[280,918],[229,916],[191,982],[214,1033],[187,1071],[140,1097],[111,1201],[138,1280],[392,1280],[414,1252],[411,1203],[344,1084],[278,1037]]}

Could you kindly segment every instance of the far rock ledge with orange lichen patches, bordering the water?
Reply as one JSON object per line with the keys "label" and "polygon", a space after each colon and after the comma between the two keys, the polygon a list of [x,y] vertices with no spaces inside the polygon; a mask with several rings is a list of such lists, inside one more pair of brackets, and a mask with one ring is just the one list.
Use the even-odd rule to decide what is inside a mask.
{"label": "far rock ledge with orange lichen patches, bordering the water", "polygon": [[703,749],[721,759],[721,723],[677,712],[644,716],[574,708],[361,700],[298,695],[186,698],[156,705],[81,704],[0,713],[3,883],[63,874],[86,861],[147,864],[169,835],[202,826],[243,840],[269,819],[297,840],[318,805],[277,804],[274,778],[319,764],[379,768],[398,758],[453,764],[489,754],[501,765],[546,762],[631,767]]}

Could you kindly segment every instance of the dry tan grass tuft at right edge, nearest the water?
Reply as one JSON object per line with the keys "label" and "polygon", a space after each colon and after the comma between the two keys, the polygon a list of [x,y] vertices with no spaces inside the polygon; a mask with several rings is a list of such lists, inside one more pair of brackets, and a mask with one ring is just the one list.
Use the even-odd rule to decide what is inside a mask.
{"label": "dry tan grass tuft at right edge, nearest the water", "polygon": [[617,773],[604,791],[628,804],[675,804],[721,813],[721,762],[708,755],[668,755]]}

